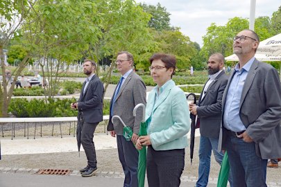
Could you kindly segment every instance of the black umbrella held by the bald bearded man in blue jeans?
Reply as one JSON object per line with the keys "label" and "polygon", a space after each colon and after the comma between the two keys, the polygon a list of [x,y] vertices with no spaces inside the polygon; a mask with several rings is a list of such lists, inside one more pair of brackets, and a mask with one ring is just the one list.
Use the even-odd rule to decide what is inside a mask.
{"label": "black umbrella held by the bald bearded man in blue jeans", "polygon": [[[194,93],[188,94],[187,100],[193,101],[193,103],[196,104],[195,94]],[[191,132],[190,132],[190,163],[192,164],[193,152],[194,152],[196,116],[194,114],[191,114],[191,112],[190,112],[190,118],[191,118],[191,125],[190,125],[190,129],[191,129]]]}

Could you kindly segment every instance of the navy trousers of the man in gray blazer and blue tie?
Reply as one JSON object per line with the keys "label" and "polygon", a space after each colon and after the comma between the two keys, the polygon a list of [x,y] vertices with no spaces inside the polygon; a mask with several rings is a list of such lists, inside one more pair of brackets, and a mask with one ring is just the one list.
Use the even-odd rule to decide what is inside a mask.
{"label": "navy trousers of the man in gray blazer and blue tie", "polygon": [[137,165],[139,152],[132,141],[126,141],[124,136],[117,135],[117,148],[119,160],[124,170],[124,187],[137,187]]}

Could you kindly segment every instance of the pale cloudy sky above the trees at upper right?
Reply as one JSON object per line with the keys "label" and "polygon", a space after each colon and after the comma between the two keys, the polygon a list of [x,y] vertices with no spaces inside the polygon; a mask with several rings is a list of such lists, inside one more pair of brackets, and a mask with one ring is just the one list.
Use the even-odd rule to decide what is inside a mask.
{"label": "pale cloudy sky above the trees at upper right", "polygon": [[[167,8],[171,26],[180,27],[192,42],[203,46],[202,37],[211,23],[223,26],[233,17],[250,17],[250,0],[136,0]],[[280,0],[256,0],[255,17],[272,16],[281,6]],[[233,33],[235,35],[236,33]]]}

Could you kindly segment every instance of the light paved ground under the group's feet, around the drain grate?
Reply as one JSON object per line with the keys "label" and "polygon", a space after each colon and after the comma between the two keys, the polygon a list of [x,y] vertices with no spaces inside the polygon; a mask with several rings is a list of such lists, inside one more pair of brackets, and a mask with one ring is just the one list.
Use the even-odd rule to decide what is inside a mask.
{"label": "light paved ground under the group's feet, around the drain grate", "polygon": [[[196,136],[195,152],[198,151],[198,136],[200,136],[198,131],[196,131]],[[83,178],[80,177],[77,168],[85,164],[85,152],[82,148],[81,156],[78,157],[75,137],[67,136],[62,139],[46,136],[37,139],[16,137],[14,140],[10,140],[10,137],[1,138],[3,157],[0,161],[0,186],[122,186],[124,174],[117,159],[116,139],[110,135],[98,133],[94,134],[94,142],[98,164],[101,167],[98,167],[99,170],[95,176]],[[189,157],[188,152],[186,157]],[[181,186],[195,185],[197,177],[192,176],[192,173],[197,172],[198,159],[196,157],[195,153],[194,166],[190,166],[189,161],[186,161],[187,168],[192,171],[191,175],[184,172]],[[111,159],[114,161],[110,163]],[[215,167],[212,169],[213,171],[216,169],[215,172],[219,169],[216,163],[212,163],[212,167]],[[36,175],[39,168],[67,168],[73,172],[68,176]],[[279,172],[280,168],[273,170]],[[210,177],[208,186],[216,186],[216,181],[217,178]],[[281,181],[280,183],[269,181],[268,184],[271,187],[281,186]]]}

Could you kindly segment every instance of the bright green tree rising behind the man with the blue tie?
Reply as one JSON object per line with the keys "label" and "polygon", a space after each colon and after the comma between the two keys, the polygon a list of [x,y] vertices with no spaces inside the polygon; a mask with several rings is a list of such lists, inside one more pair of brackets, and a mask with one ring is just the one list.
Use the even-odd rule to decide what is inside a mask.
{"label": "bright green tree rising behind the man with the blue tie", "polygon": [[150,50],[153,39],[148,32],[149,15],[133,0],[103,2],[99,12],[103,15],[99,25],[102,34],[99,36],[99,41],[90,42],[89,53],[96,60],[112,57],[110,69],[103,76],[106,91],[117,53],[130,51],[137,62],[143,53]]}

